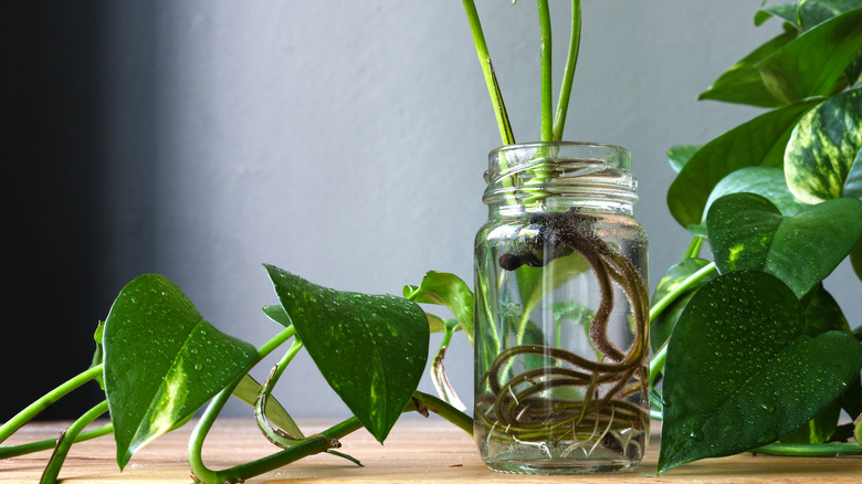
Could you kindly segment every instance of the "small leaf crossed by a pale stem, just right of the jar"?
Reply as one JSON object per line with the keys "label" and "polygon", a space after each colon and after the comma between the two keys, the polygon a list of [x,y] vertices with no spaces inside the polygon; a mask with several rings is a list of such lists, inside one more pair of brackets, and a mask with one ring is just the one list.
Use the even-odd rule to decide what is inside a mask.
{"label": "small leaf crossed by a pale stem, just right of the jar", "polygon": [[[688,276],[708,264],[709,261],[703,259],[685,259],[669,269],[662,278],[659,280],[659,285],[655,287],[655,294],[652,296],[653,304],[667,296],[667,294],[676,290],[676,287],[679,287],[679,285]],[[653,351],[658,351],[659,348],[664,345],[664,341],[671,337],[673,327],[680,319],[680,315],[683,309],[685,309],[685,306],[694,296],[694,293],[716,276],[717,274],[715,273],[704,276],[691,290],[680,294],[670,306],[655,316],[650,323],[650,345],[652,345]]]}

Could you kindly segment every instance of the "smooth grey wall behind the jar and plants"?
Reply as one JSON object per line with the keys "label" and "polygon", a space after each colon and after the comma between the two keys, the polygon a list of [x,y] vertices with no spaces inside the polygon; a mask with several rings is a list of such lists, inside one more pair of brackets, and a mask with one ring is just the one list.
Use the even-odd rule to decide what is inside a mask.
{"label": "smooth grey wall behind the jar and plants", "polygon": [[[515,134],[534,140],[535,4],[477,3]],[[566,3],[551,6],[563,13],[558,65]],[[262,262],[368,293],[400,294],[428,270],[472,281],[482,173],[500,139],[460,2],[103,6],[107,304],[136,274],[159,272],[221,329],[261,344],[277,330],[260,312],[276,301]],[[759,6],[584,2],[565,137],[634,152],[653,285],[690,240],[664,202],[667,147],[704,143],[758,113],[695,98],[780,30],[753,25]],[[839,273],[831,287],[847,305],[859,282],[847,266]],[[470,351],[461,341],[448,362],[467,403]],[[277,396],[296,415],[346,412],[309,360],[285,378],[290,390]]]}

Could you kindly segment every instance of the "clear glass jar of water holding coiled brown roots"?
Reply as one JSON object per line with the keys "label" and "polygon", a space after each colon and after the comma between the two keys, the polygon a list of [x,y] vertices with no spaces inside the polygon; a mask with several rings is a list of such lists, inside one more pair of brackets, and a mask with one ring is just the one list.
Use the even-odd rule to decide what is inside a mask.
{"label": "clear glass jar of water holding coiled brown roots", "polygon": [[490,155],[476,235],[474,435],[530,474],[635,466],[649,441],[646,234],[631,154],[575,143]]}

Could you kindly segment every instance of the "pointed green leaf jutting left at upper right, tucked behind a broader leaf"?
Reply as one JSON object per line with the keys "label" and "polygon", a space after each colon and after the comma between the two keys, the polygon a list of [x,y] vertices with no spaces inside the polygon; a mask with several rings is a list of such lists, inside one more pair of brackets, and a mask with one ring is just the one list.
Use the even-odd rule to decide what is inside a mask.
{"label": "pointed green leaf jutting left at upper right, tucked behind a broader leaf", "polygon": [[712,86],[701,93],[697,99],[723,101],[758,107],[778,107],[786,104],[766,87],[760,71],[755,67],[755,64],[778,52],[797,35],[796,31],[787,31],[760,45],[722,74]]}

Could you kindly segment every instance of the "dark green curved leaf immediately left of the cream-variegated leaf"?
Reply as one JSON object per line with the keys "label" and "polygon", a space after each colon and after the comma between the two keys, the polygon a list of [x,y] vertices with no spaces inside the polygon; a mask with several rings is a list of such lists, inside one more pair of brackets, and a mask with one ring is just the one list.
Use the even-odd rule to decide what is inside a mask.
{"label": "dark green curved leaf immediately left of the cream-variegated leaf", "polygon": [[676,221],[683,228],[701,223],[709,193],[727,175],[745,167],[781,167],[793,126],[817,104],[806,101],[771,111],[704,145],[667,190]]}

